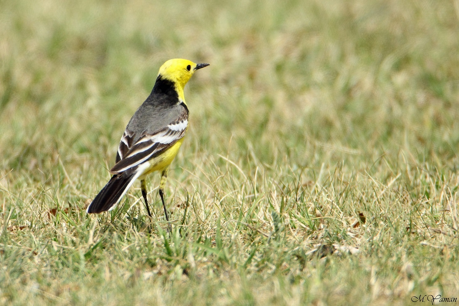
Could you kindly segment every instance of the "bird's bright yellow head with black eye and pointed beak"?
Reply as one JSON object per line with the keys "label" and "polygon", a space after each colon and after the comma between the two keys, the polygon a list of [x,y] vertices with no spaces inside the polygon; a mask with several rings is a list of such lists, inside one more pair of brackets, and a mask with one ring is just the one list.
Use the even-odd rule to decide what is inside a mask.
{"label": "bird's bright yellow head with black eye and pointed beak", "polygon": [[159,68],[158,76],[174,82],[176,89],[183,91],[185,84],[190,80],[193,73],[207,66],[209,64],[196,64],[192,61],[174,58],[162,64]]}

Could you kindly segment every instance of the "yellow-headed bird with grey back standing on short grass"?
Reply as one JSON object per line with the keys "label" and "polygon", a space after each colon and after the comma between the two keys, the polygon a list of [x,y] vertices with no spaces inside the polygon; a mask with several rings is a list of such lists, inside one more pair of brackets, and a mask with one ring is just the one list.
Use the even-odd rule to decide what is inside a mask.
{"label": "yellow-headed bird with grey back standing on short grass", "polygon": [[164,187],[171,162],[174,160],[188,128],[188,106],[184,88],[196,70],[209,64],[196,64],[185,59],[166,61],[160,68],[151,94],[129,120],[118,145],[112,178],[95,196],[86,211],[101,213],[114,209],[137,179],[148,216],[152,218],[147,200],[146,177],[161,173],[159,195],[166,221],[168,211]]}

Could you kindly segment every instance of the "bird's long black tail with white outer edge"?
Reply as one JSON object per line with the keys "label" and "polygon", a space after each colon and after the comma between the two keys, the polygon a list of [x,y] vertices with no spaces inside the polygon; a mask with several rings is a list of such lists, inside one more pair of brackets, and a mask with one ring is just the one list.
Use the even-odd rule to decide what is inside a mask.
{"label": "bird's long black tail with white outer edge", "polygon": [[128,191],[134,176],[135,171],[129,174],[123,172],[113,175],[105,187],[95,196],[86,211],[88,213],[99,213],[110,210],[114,205],[118,204],[126,191]]}

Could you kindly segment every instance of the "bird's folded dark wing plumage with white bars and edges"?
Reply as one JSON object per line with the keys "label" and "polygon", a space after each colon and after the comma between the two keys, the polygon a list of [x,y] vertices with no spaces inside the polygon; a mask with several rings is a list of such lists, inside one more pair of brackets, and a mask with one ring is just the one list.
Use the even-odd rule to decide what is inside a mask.
{"label": "bird's folded dark wing plumage with white bars and edges", "polygon": [[123,172],[158,156],[185,136],[187,127],[188,110],[183,108],[175,121],[153,133],[143,132],[139,137],[135,132],[126,129],[118,146],[117,163],[110,172]]}

